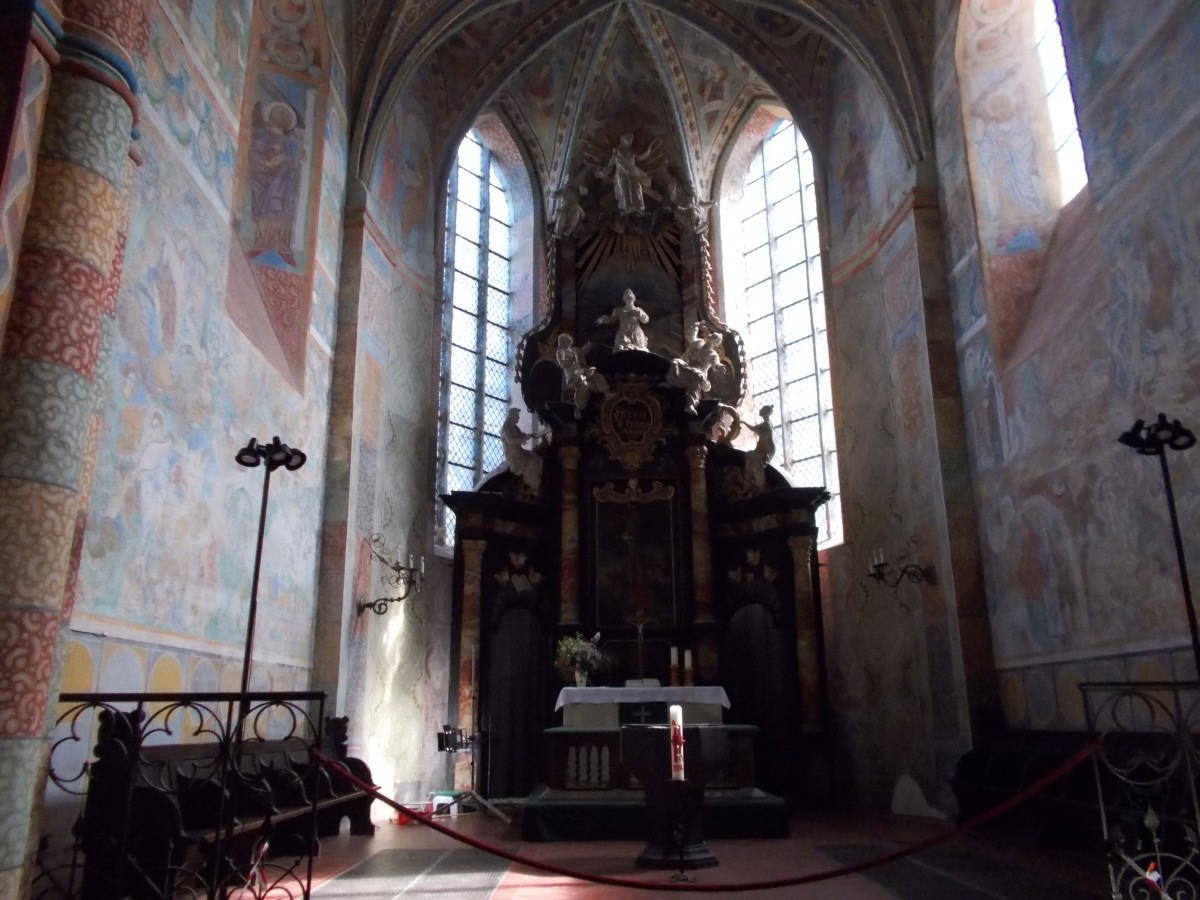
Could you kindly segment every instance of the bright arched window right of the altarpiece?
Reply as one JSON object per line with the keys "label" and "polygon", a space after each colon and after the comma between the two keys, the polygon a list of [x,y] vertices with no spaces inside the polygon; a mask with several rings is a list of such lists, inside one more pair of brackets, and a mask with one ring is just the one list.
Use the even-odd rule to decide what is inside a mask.
{"label": "bright arched window right of the altarpiece", "polygon": [[780,119],[767,133],[732,206],[722,216],[724,258],[740,272],[731,272],[725,286],[740,296],[727,304],[726,316],[745,338],[750,408],[757,414],[774,407],[774,466],[793,484],[829,491],[818,542],[840,544],[816,184],[812,154],[791,121]]}

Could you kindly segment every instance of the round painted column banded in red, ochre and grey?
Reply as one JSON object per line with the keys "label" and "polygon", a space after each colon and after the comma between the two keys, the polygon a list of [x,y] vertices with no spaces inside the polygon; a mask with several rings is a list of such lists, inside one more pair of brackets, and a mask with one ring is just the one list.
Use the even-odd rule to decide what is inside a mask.
{"label": "round painted column banded in red, ochre and grey", "polygon": [[65,5],[8,323],[0,346],[0,896],[19,896],[46,782],[55,644],[70,614],[102,335],[115,312],[137,0]]}

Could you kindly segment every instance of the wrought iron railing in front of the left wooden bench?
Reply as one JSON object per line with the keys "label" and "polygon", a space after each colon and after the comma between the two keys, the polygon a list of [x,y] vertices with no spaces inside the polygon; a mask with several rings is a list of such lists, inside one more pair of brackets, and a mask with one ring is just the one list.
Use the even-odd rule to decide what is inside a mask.
{"label": "wrought iron railing in front of the left wooden bench", "polygon": [[307,898],[325,695],[64,694],[35,898]]}

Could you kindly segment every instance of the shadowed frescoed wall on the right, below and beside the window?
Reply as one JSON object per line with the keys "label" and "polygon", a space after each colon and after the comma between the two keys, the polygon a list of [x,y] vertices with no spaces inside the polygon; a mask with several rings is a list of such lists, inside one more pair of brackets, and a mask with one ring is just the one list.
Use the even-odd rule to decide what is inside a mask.
{"label": "shadowed frescoed wall on the right, below and beside the window", "polygon": [[[1013,5],[984,6],[964,4],[972,40],[959,48],[972,166],[1024,167],[1037,178],[1040,162],[1014,150],[1037,125],[1025,136],[1013,126],[1006,137],[985,121],[983,107],[1003,110],[1003,85],[973,79],[1008,71],[1020,29],[1006,30]],[[1091,4],[1067,2],[1060,11],[1090,196],[1051,210],[1051,234],[1038,226],[1037,186],[984,190],[980,246],[972,252],[954,238],[961,258],[952,260],[1004,713],[1010,725],[1033,728],[1080,727],[1080,680],[1193,677],[1160,474],[1116,436],[1159,409],[1189,424],[1200,416],[1192,301],[1200,288],[1200,193],[1183,175],[1196,152],[1188,124],[1198,114],[1200,14],[1186,4],[1102,16]],[[1187,60],[1176,65],[1180,54]],[[1024,101],[1009,94],[1015,113]],[[955,125],[953,94],[946,96],[940,142]],[[998,131],[984,137],[980,128]],[[1027,234],[997,224],[1004,215],[1019,224],[1026,212]],[[1025,299],[997,305],[1006,271],[997,260],[1030,252],[1042,256]],[[1002,300],[1004,292],[1001,283]],[[1196,521],[1198,467],[1172,462],[1181,520]],[[1186,552],[1194,568],[1200,547],[1186,539]]]}

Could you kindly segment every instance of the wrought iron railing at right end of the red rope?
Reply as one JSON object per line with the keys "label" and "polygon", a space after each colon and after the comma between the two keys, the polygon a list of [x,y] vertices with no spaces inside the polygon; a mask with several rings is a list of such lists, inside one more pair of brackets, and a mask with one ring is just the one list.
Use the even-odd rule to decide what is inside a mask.
{"label": "wrought iron railing at right end of the red rope", "polygon": [[1114,900],[1200,896],[1200,683],[1082,684]]}

